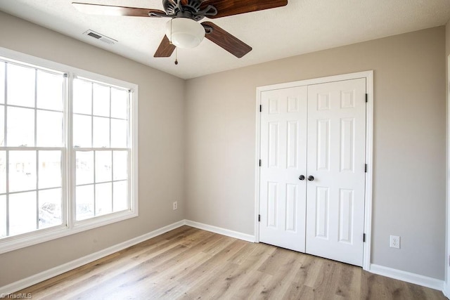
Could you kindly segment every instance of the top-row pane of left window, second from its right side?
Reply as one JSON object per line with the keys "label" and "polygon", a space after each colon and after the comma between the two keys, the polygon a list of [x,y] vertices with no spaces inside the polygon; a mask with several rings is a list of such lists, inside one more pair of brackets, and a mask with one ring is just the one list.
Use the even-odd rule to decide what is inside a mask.
{"label": "top-row pane of left window, second from its right side", "polygon": [[34,107],[34,69],[8,63],[7,70],[8,104]]}

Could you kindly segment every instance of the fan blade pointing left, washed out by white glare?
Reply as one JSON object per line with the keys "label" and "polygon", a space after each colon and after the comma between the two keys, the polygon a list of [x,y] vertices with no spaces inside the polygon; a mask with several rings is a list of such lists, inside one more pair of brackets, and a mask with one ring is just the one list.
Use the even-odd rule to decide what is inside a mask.
{"label": "fan blade pointing left, washed out by white glare", "polygon": [[164,11],[151,8],[136,8],[125,6],[110,6],[101,4],[86,4],[79,2],[72,2],[72,5],[82,13],[91,15],[124,15],[129,17],[148,17],[149,13],[158,13],[165,15]]}

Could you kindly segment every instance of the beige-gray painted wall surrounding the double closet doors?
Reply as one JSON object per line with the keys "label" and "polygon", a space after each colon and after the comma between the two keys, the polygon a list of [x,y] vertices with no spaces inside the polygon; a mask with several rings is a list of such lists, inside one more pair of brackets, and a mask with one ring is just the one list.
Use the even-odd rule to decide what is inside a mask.
{"label": "beige-gray painted wall surrounding the double closet doors", "polygon": [[254,234],[257,86],[374,70],[372,263],[444,279],[444,54],[436,27],[188,80],[186,218]]}

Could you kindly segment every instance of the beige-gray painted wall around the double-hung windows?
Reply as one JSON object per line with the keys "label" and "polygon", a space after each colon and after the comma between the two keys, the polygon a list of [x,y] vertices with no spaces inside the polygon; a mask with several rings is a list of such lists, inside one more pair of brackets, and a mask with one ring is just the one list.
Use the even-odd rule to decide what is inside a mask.
{"label": "beige-gray painted wall around the double-hung windows", "polygon": [[184,80],[1,12],[0,37],[1,47],[139,85],[139,217],[0,254],[0,287],[184,219]]}

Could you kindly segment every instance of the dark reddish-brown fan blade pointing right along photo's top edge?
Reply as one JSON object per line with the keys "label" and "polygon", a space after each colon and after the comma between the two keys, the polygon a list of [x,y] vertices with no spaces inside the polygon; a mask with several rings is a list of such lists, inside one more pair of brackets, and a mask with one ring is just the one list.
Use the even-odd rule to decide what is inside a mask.
{"label": "dark reddish-brown fan blade pointing right along photo's top edge", "polygon": [[200,9],[212,5],[217,8],[217,15],[208,18],[221,18],[227,15],[238,15],[240,13],[251,13],[252,11],[263,11],[264,9],[285,6],[288,0],[206,0]]}

